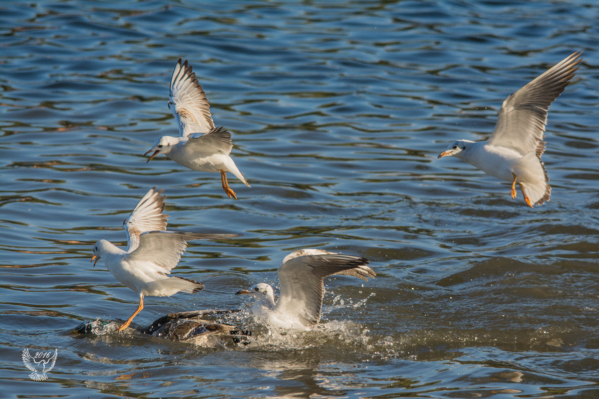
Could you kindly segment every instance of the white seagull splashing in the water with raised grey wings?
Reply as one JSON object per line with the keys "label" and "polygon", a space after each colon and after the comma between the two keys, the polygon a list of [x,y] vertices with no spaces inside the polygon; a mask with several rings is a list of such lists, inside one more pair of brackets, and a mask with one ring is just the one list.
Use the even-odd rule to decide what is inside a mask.
{"label": "white seagull splashing in the water with raised grey wings", "polygon": [[367,266],[366,258],[340,255],[322,249],[300,249],[283,258],[277,273],[281,285],[275,302],[273,287],[265,283],[252,285],[236,295],[247,294],[256,299],[252,314],[264,316],[276,327],[309,328],[320,321],[320,307],[325,290],[323,279],[331,275],[347,275],[368,280],[376,273]]}

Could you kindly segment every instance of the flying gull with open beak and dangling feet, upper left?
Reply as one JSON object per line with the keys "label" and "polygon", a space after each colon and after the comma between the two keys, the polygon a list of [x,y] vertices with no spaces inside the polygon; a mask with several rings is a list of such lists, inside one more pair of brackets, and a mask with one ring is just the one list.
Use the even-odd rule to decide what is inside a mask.
{"label": "flying gull with open beak and dangling feet, upper left", "polygon": [[168,108],[179,122],[179,137],[162,136],[156,140],[144,154],[146,156],[153,152],[146,163],[159,154],[165,154],[189,169],[220,172],[220,182],[229,198],[237,199],[237,195],[229,187],[226,172],[233,173],[247,187],[251,187],[229,157],[233,148],[231,133],[222,127],[214,127],[206,93],[187,60],[181,62],[179,59],[173,71]]}

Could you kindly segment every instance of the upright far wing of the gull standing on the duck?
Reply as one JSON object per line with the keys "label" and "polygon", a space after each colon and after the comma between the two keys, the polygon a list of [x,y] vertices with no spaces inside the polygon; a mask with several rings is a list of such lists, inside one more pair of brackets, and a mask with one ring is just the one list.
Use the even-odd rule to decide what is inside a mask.
{"label": "upright far wing of the gull standing on the duck", "polygon": [[128,251],[134,251],[140,244],[140,234],[167,230],[168,215],[164,211],[164,190],[156,191],[156,187],[143,196],[135,205],[128,218],[123,221],[127,233]]}

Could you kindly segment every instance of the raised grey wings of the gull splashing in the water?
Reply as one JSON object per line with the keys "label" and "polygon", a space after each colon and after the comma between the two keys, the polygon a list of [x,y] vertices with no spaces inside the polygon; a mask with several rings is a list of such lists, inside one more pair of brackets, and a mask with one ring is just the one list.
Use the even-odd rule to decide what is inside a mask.
{"label": "raised grey wings of the gull splashing in the water", "polygon": [[298,316],[305,325],[314,325],[320,321],[322,295],[325,290],[323,278],[339,273],[361,278],[376,276],[367,266],[366,258],[325,251],[322,251],[325,252],[322,254],[315,249],[303,251],[316,251],[311,252],[316,254],[292,257],[298,251],[293,252],[279,267],[281,292],[274,310]]}

